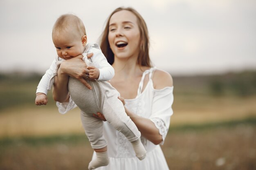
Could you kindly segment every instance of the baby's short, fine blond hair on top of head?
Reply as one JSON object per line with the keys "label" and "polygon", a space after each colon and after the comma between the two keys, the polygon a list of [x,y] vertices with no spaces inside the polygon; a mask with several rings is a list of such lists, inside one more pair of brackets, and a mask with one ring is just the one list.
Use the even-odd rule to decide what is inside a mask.
{"label": "baby's short, fine blond hair on top of head", "polygon": [[76,31],[81,33],[81,36],[86,35],[82,20],[71,13],[63,14],[56,20],[52,29],[52,35],[55,32],[65,31],[70,28],[75,28]]}

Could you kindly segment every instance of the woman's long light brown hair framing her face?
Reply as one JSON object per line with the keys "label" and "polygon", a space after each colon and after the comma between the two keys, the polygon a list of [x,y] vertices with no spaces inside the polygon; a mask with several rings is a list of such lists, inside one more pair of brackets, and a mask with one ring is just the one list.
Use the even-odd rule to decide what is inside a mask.
{"label": "woman's long light brown hair framing her face", "polygon": [[119,7],[115,9],[108,17],[105,29],[103,33],[101,34],[101,40],[100,40],[100,46],[101,46],[101,51],[102,53],[106,56],[108,62],[110,64],[114,63],[114,53],[110,49],[110,45],[108,42],[108,32],[109,32],[109,22],[110,18],[114,13],[117,13],[119,11],[126,10],[132,12],[136,18],[137,18],[137,24],[139,26],[139,32],[140,32],[140,40],[141,40],[141,46],[140,46],[140,51],[139,51],[139,56],[137,63],[140,66],[149,66],[151,67],[151,61],[149,58],[149,37],[148,37],[148,28],[146,25],[146,22],[144,19],[141,17],[141,15],[133,8],[124,8],[124,7]]}

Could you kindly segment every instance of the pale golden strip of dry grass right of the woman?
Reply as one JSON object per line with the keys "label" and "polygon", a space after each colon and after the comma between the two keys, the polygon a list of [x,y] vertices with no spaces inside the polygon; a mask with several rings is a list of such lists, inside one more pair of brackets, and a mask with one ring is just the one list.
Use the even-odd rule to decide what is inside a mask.
{"label": "pale golden strip of dry grass right of the woman", "polygon": [[171,126],[256,117],[256,97],[176,96]]}

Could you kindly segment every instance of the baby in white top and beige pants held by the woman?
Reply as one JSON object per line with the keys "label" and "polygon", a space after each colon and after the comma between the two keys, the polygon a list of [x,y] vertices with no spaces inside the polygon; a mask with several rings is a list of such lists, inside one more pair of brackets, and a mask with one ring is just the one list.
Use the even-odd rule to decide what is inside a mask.
{"label": "baby in white top and beige pants held by the woman", "polygon": [[[98,44],[87,44],[87,36],[83,22],[75,15],[61,15],[54,24],[52,40],[56,47],[58,57],[40,80],[36,91],[36,105],[47,104],[47,91],[54,83],[58,67],[62,61],[69,60],[78,55],[83,55],[83,60],[88,65],[92,89],[88,89],[79,80],[70,77],[68,91],[70,103],[81,109],[81,121],[85,133],[96,152],[96,159],[90,161],[88,169],[107,166],[109,162],[107,141],[102,134],[103,121],[93,117],[95,113],[102,113],[106,120],[118,131],[122,132],[131,142],[135,155],[142,160],[146,157],[146,150],[140,141],[140,132],[133,121],[126,115],[124,105],[118,99],[119,93],[110,83],[106,82],[114,76],[114,68],[107,62]],[[88,59],[87,53],[93,53]],[[65,103],[58,103],[65,106]],[[73,107],[74,108],[74,107]],[[71,108],[72,109],[72,108]],[[70,108],[61,110],[66,113]]]}

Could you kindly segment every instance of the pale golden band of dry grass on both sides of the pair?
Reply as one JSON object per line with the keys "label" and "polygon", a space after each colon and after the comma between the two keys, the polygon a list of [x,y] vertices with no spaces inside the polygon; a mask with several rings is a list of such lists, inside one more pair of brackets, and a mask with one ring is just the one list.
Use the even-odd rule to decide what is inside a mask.
{"label": "pale golden band of dry grass on both sides of the pair", "polygon": [[[256,117],[256,97],[177,96],[171,126]],[[56,106],[20,106],[0,113],[0,138],[83,133],[79,109],[65,115]]]}

